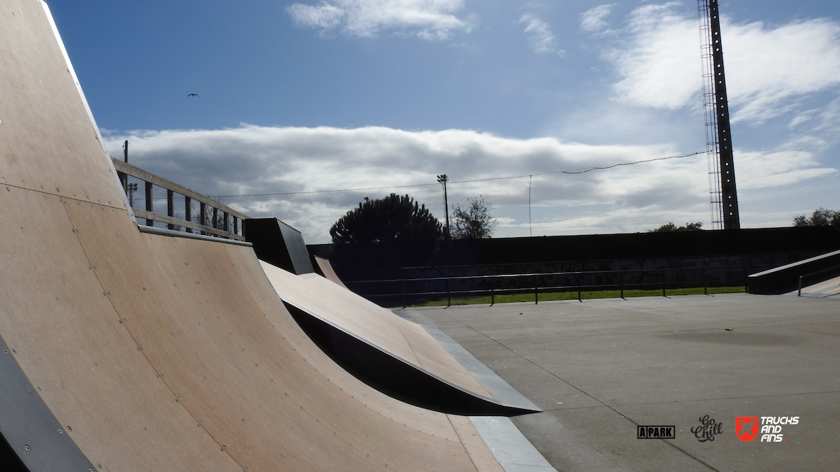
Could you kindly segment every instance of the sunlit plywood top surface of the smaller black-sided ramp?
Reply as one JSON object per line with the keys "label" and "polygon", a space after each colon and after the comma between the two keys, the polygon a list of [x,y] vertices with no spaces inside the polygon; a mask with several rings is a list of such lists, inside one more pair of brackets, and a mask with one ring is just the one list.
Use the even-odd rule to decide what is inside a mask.
{"label": "sunlit plywood top surface of the smaller black-sided ramp", "polygon": [[417,323],[402,319],[321,275],[294,275],[263,261],[260,265],[287,302],[454,385],[492,398],[484,385]]}

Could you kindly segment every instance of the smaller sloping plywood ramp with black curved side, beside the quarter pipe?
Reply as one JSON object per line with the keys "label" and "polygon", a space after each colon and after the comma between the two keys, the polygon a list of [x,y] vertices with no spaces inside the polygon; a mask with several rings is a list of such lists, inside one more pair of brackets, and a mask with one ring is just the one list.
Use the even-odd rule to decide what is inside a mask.
{"label": "smaller sloping plywood ramp with black curved side, beside the quarter pipe", "polygon": [[470,416],[537,412],[498,401],[422,326],[317,274],[260,261],[303,330],[368,385],[412,405]]}

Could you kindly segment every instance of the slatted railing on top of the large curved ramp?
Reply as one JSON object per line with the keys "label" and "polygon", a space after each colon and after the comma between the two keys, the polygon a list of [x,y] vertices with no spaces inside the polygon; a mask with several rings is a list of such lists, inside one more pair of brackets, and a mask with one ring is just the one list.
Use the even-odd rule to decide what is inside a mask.
{"label": "slatted railing on top of the large curved ramp", "polygon": [[[129,176],[144,181],[144,208],[137,208],[132,204],[132,211],[136,218],[144,218],[146,220],[146,226],[154,226],[155,222],[160,222],[165,223],[169,229],[182,229],[186,233],[200,233],[208,236],[244,241],[245,237],[241,228],[241,221],[249,218],[244,213],[237,212],[231,207],[186,188],[186,186],[181,186],[163,177],[155,176],[155,174],[130,165],[127,162],[113,158],[112,160],[119,179],[123,183],[123,190],[126,193],[129,192]],[[160,186],[166,190],[166,214],[155,212],[154,186]],[[176,216],[176,194],[184,198],[184,218]],[[193,201],[199,202],[197,215],[192,214]]]}

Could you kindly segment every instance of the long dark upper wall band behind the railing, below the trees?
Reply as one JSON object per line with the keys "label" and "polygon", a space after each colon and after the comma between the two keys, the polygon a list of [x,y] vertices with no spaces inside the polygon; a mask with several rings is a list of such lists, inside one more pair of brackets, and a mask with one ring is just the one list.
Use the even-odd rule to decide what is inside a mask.
{"label": "long dark upper wall band behind the railing, below the trees", "polygon": [[[307,247],[310,253],[325,259],[332,255],[332,244]],[[836,249],[840,249],[840,230],[832,227],[585,234],[453,240],[425,269],[370,270],[335,265],[335,270],[344,281],[359,281],[456,273],[512,274],[640,267],[748,265],[766,269]]]}

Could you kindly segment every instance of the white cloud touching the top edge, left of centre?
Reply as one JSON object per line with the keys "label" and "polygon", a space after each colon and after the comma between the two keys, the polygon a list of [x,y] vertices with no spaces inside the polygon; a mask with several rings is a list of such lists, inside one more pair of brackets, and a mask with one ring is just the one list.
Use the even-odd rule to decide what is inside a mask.
{"label": "white cloud touching the top edge, left of centre", "polygon": [[445,39],[468,25],[454,16],[464,0],[324,0],[295,3],[286,11],[295,23],[344,34],[372,37],[382,31],[411,31],[423,39]]}

